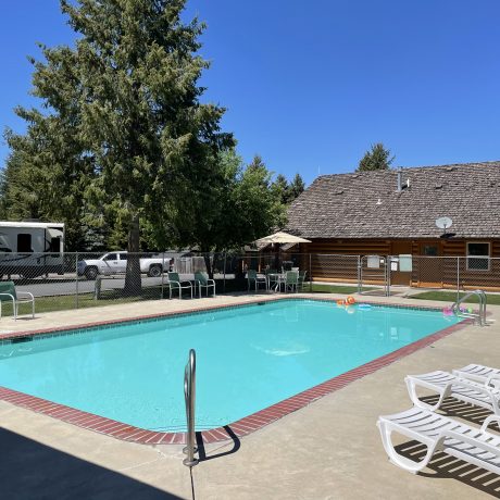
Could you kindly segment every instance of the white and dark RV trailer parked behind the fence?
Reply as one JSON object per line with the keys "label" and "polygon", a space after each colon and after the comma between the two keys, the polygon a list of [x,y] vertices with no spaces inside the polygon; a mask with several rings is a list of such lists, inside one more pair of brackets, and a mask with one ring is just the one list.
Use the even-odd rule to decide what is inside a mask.
{"label": "white and dark RV trailer parked behind the fence", "polygon": [[63,274],[64,224],[0,221],[0,275]]}

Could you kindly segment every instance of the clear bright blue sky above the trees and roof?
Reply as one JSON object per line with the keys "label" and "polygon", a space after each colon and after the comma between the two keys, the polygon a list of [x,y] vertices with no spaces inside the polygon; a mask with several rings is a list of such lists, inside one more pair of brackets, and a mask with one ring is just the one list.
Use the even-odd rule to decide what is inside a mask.
{"label": "clear bright blue sky above the trees and roof", "polygon": [[[2,2],[0,127],[23,130],[37,41],[71,43],[58,0]],[[205,100],[246,161],[307,183],[382,141],[397,165],[500,160],[498,0],[190,0]],[[0,145],[0,164],[8,149]]]}

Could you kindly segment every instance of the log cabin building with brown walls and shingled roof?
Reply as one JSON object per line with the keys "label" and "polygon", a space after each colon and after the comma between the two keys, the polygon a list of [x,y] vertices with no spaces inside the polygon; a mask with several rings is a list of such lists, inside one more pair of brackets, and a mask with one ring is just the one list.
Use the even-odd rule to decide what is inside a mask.
{"label": "log cabin building with brown walls and shingled roof", "polygon": [[[438,228],[445,216],[451,227]],[[300,253],[311,254],[314,280],[355,279],[324,255],[411,255],[392,284],[457,288],[459,276],[465,289],[498,290],[500,161],[323,175],[291,204],[284,230],[312,241]]]}

